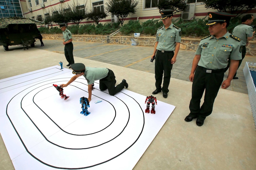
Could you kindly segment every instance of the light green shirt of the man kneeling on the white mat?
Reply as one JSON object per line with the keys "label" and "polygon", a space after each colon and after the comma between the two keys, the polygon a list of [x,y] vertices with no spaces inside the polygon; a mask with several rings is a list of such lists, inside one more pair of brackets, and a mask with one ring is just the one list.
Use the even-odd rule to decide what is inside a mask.
{"label": "light green shirt of the man kneeling on the white mat", "polygon": [[89,85],[94,83],[95,80],[100,80],[107,77],[107,75],[107,68],[85,67],[84,77]]}

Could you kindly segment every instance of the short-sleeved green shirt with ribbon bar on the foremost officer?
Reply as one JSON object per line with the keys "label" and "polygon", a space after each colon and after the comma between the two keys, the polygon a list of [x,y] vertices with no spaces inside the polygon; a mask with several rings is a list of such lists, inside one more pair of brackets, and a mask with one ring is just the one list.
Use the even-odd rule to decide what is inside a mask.
{"label": "short-sleeved green shirt with ribbon bar on the foremost officer", "polygon": [[241,41],[230,37],[227,33],[217,39],[214,35],[202,39],[199,43],[196,55],[201,55],[198,66],[207,69],[224,69],[227,67],[227,59],[241,60]]}

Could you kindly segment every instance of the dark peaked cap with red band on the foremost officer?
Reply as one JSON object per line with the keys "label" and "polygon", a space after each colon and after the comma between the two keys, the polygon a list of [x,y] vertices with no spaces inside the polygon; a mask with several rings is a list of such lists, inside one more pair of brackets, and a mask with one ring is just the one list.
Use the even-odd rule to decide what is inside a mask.
{"label": "dark peaked cap with red band on the foremost officer", "polygon": [[209,20],[206,25],[214,25],[218,22],[229,23],[231,17],[236,16],[236,14],[229,14],[227,12],[208,12]]}

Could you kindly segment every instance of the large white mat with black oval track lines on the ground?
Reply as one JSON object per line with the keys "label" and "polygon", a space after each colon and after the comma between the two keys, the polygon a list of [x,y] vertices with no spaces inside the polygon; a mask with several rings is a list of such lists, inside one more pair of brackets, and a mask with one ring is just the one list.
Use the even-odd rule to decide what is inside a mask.
{"label": "large white mat with black oval track lines on the ground", "polygon": [[0,132],[15,169],[132,169],[175,106],[157,101],[156,114],[147,114],[146,96],[111,96],[97,81],[84,116],[84,77],[64,88],[66,101],[53,87],[72,76],[54,66],[0,80]]}

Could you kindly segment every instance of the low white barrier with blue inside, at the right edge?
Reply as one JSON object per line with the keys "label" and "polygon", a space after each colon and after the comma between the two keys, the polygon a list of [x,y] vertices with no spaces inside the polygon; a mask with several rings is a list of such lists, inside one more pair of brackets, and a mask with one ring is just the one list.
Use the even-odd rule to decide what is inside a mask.
{"label": "low white barrier with blue inside, at the right edge", "polygon": [[253,82],[252,79],[252,75],[249,69],[249,66],[252,67],[252,70],[256,71],[256,63],[252,63],[247,61],[243,72],[244,72],[244,77],[245,77],[245,81],[246,81],[246,85],[247,85],[247,90],[248,90],[248,96],[249,96],[249,101],[251,104],[251,108],[252,108],[252,116],[254,119],[254,123],[255,123],[255,128],[256,128],[256,88],[255,88],[255,84]]}

